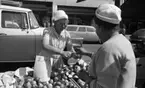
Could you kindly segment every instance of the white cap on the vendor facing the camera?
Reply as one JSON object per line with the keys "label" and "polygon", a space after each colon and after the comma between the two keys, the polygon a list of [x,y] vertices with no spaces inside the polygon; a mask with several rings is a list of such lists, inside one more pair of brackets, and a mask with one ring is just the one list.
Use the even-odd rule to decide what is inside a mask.
{"label": "white cap on the vendor facing the camera", "polygon": [[60,19],[68,19],[68,15],[63,10],[54,12],[52,20],[57,21]]}

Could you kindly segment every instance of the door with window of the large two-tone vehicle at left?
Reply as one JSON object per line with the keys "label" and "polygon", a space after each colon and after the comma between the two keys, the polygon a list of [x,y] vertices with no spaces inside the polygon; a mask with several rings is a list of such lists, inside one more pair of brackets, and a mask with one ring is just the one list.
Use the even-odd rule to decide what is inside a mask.
{"label": "door with window of the large two-tone vehicle at left", "polygon": [[35,34],[29,30],[27,14],[2,11],[0,61],[28,62],[35,55]]}

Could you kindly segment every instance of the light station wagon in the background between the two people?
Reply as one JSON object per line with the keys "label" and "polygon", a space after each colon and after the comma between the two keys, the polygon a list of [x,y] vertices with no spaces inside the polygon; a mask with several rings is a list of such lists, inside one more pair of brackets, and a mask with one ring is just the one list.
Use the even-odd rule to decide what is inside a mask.
{"label": "light station wagon in the background between the two people", "polygon": [[82,37],[84,42],[99,42],[96,29],[86,25],[68,25],[66,30],[71,36]]}

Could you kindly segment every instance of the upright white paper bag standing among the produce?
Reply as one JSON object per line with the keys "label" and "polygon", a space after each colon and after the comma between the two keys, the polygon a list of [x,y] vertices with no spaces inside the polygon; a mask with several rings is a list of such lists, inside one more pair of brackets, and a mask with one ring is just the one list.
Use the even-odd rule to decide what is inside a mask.
{"label": "upright white paper bag standing among the produce", "polygon": [[37,55],[34,64],[34,77],[41,82],[48,82],[51,74],[51,63],[49,58]]}

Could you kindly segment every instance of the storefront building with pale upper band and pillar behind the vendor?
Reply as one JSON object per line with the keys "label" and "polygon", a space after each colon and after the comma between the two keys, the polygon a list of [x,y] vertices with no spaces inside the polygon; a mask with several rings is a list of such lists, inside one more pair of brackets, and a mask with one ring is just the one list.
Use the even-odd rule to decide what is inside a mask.
{"label": "storefront building with pale upper band and pillar behind the vendor", "polygon": [[103,3],[114,4],[114,0],[13,0],[22,2],[24,8],[32,9],[40,26],[52,24],[56,10],[64,10],[69,16],[69,24],[91,25],[96,8]]}

